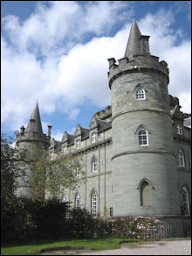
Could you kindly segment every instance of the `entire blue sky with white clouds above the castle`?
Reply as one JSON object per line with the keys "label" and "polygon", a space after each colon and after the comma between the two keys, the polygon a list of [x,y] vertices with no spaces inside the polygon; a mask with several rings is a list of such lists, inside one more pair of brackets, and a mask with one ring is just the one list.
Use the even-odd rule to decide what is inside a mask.
{"label": "entire blue sky with white clouds above the castle", "polygon": [[62,139],[111,104],[107,59],[123,57],[133,14],[150,52],[168,62],[168,92],[190,112],[190,1],[2,1],[2,132],[26,127],[38,100],[43,130]]}

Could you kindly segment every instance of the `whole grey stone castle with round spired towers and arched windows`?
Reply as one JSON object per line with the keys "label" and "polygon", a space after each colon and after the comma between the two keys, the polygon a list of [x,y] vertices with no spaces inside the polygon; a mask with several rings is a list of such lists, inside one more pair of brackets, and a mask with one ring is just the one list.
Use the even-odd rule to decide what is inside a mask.
{"label": "whole grey stone castle with round spired towers and arched windows", "polygon": [[18,146],[81,156],[80,186],[60,199],[94,217],[190,216],[190,115],[168,95],[168,65],[150,54],[148,39],[133,18],[124,57],[108,59],[112,105],[96,112],[89,128],[78,124],[73,135],[51,139],[37,103],[17,134]]}

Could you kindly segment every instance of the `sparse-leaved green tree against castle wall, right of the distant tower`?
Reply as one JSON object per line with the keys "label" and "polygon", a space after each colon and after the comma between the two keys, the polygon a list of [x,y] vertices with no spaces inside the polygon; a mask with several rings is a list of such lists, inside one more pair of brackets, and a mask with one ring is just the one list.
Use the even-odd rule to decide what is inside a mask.
{"label": "sparse-leaved green tree against castle wall, right of the distant tower", "polygon": [[38,160],[31,163],[29,183],[34,199],[44,199],[45,193],[50,198],[60,198],[66,188],[76,188],[79,183],[77,168],[81,168],[80,160],[72,154],[58,153],[53,159],[51,153],[41,154]]}

